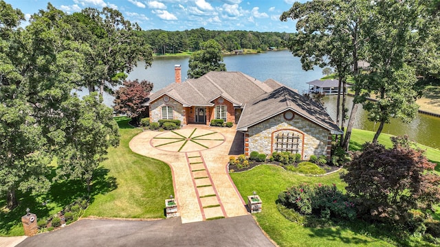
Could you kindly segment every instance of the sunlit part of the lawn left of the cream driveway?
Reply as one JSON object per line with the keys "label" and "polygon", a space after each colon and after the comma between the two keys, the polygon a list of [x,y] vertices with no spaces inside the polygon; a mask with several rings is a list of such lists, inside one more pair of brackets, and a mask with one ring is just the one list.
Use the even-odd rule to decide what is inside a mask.
{"label": "sunlit part of the lawn left of the cream driveway", "polygon": [[164,200],[174,195],[171,170],[166,163],[131,152],[129,142],[142,132],[131,128],[128,119],[117,119],[120,125],[120,145],[110,148],[107,177],[114,179],[116,188],[98,194],[85,211],[85,216],[159,218],[164,217]]}

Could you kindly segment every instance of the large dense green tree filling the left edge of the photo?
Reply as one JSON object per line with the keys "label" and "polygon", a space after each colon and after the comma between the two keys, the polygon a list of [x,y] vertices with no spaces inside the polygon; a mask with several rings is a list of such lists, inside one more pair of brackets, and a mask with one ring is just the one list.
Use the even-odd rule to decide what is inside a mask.
{"label": "large dense green tree filling the left edge of the photo", "polygon": [[25,30],[23,14],[0,5],[0,193],[12,209],[17,190],[41,193],[50,186],[47,163],[60,133],[51,123],[63,116],[59,106],[72,97],[84,58],[65,14],[52,5],[32,15]]}

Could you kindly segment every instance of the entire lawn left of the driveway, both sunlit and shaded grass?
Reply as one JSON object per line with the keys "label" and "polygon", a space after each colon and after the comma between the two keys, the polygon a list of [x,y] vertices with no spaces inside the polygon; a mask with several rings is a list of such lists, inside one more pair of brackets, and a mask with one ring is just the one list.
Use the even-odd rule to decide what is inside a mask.
{"label": "entire lawn left of the driveway, both sunlit and shaded grass", "polygon": [[[174,194],[170,167],[131,152],[129,141],[142,130],[129,126],[129,119],[124,117],[115,120],[120,126],[120,145],[109,149],[107,161],[94,174],[91,204],[85,216],[164,217],[164,200]],[[26,208],[39,219],[47,218],[85,194],[85,185],[80,181],[62,181],[44,195],[19,193],[19,207],[12,211],[5,209],[5,198],[0,198],[0,236],[24,235],[21,216]]]}

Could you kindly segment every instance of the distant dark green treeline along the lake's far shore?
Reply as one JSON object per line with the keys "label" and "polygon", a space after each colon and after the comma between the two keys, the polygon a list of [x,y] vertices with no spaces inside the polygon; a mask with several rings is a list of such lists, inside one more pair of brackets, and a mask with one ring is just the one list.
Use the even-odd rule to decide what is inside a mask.
{"label": "distant dark green treeline along the lake's far shore", "polygon": [[223,50],[257,49],[283,47],[291,34],[286,32],[216,31],[203,27],[185,31],[148,30],[142,31],[145,40],[156,54],[175,54],[179,51],[197,51],[200,43],[214,39]]}

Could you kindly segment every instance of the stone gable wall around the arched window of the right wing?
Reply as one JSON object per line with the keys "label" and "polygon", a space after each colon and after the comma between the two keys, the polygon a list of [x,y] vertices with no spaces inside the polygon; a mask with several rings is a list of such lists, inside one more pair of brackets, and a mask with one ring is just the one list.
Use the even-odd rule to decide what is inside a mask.
{"label": "stone gable wall around the arched window of the right wing", "polygon": [[[272,141],[272,133],[278,130],[297,130],[296,134],[303,135],[303,159],[308,160],[312,154],[316,156],[330,156],[329,139],[331,134],[329,130],[317,126],[316,124],[295,115],[294,119],[286,120],[283,113],[267,119],[256,126],[248,128],[245,134],[245,154],[249,155],[252,151],[262,152],[267,155],[274,152],[275,141]],[[300,149],[301,149],[300,145]]]}

